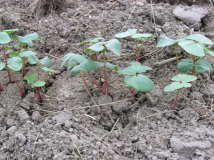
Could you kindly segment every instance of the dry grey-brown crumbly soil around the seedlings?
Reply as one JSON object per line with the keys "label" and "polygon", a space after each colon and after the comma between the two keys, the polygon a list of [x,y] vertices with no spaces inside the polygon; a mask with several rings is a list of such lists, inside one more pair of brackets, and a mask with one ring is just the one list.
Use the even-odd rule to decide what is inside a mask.
{"label": "dry grey-brown crumbly soil around the seedlings", "polygon": [[[156,47],[162,35],[178,39],[200,33],[214,42],[214,2],[154,2],[151,7],[143,0],[67,0],[60,9],[47,12],[38,0],[1,1],[2,29],[18,28],[15,34],[22,36],[37,32],[39,40],[29,50],[39,59],[48,56],[56,73],[50,74],[41,88],[43,102],[38,104],[35,90],[27,82],[22,99],[16,84],[9,83],[7,71],[0,71],[4,88],[0,92],[0,160],[214,160],[214,59],[209,72],[197,74],[190,90],[181,90],[172,111],[176,91],[165,93],[163,88],[177,73],[176,61],[159,62],[175,54],[173,47]],[[178,19],[173,14],[177,6],[205,9],[200,27]],[[65,54],[85,55],[84,49],[90,44],[78,43],[96,37],[112,39],[116,33],[134,28],[154,36],[145,41],[140,62],[153,68],[146,76],[154,81],[155,88],[148,93],[135,92],[132,102],[132,88],[116,71],[108,70],[108,96],[85,77],[91,98],[81,77],[61,67]],[[18,42],[13,40],[10,45]],[[136,55],[132,39],[119,41],[122,55],[107,52],[106,56],[121,70],[135,61]],[[0,50],[2,53],[2,47]],[[7,56],[12,51],[8,50]],[[190,57],[181,48],[178,53]],[[95,60],[93,54],[85,56]],[[26,69],[36,72],[36,66],[28,63]],[[21,85],[21,73],[13,73]],[[98,81],[98,71],[89,74]],[[40,79],[45,77],[40,71]]]}

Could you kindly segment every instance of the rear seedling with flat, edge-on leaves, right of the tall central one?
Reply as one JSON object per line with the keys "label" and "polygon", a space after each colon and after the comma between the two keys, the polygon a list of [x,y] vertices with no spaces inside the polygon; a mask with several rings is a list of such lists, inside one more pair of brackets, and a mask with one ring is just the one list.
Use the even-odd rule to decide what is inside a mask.
{"label": "rear seedling with flat, edge-on leaves, right of the tall central one", "polygon": [[[137,29],[130,29],[126,32],[118,33],[115,35],[116,38],[125,38],[125,37],[129,37],[129,36],[131,36],[134,39],[134,42],[136,45],[136,55],[137,55],[136,61],[138,62],[144,40],[146,38],[153,38],[153,36],[152,36],[152,34],[149,34],[149,33],[137,33]],[[138,48],[138,45],[137,45],[137,39],[141,40],[140,49]]]}

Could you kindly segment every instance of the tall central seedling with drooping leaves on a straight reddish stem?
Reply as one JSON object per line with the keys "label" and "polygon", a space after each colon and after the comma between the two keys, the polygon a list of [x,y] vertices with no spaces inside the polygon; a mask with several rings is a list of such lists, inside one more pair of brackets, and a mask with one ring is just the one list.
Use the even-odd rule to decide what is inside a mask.
{"label": "tall central seedling with drooping leaves on a straight reddish stem", "polygon": [[98,42],[88,48],[85,49],[85,53],[89,54],[91,50],[96,52],[102,52],[103,54],[103,61],[104,61],[104,92],[105,94],[109,94],[108,89],[108,76],[107,76],[107,62],[105,58],[105,52],[109,49],[117,56],[121,55],[121,44],[117,39],[112,39],[106,42]]}

